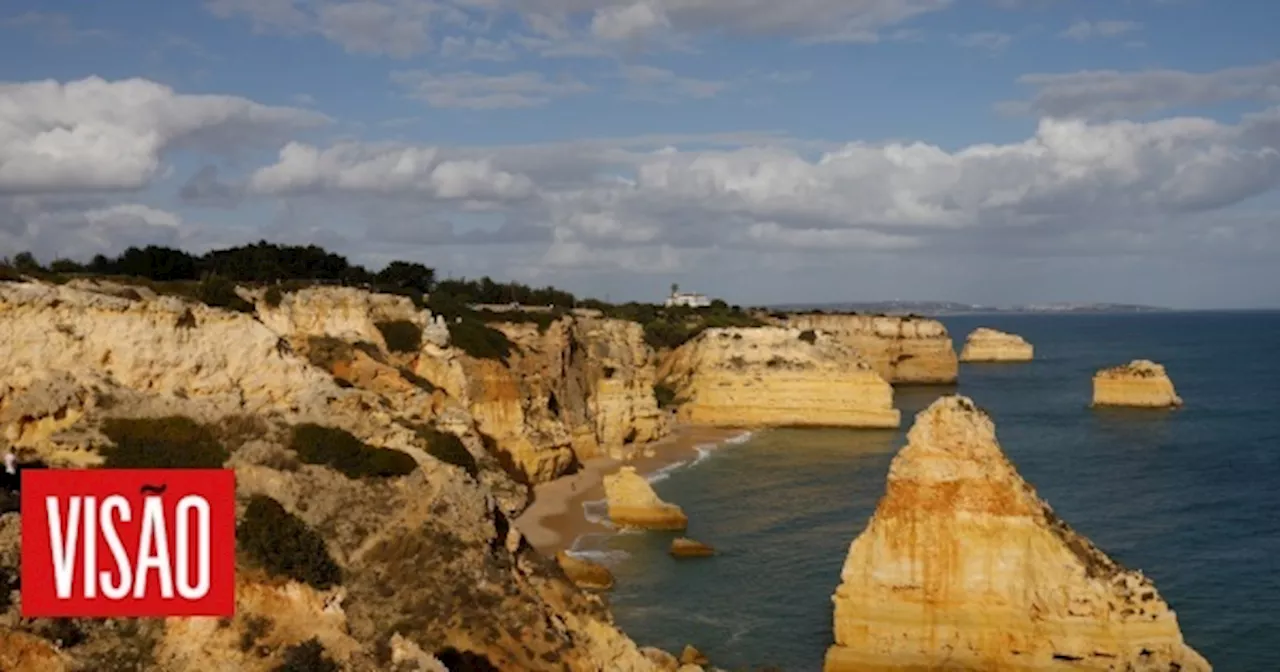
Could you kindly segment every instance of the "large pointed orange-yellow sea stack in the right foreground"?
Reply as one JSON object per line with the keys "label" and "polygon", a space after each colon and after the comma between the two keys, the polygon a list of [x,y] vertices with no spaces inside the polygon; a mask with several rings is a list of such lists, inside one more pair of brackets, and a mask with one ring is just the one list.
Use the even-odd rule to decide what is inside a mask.
{"label": "large pointed orange-yellow sea stack in the right foreground", "polygon": [[824,672],[1211,669],[1155,585],[1055,516],[959,396],[916,417],[833,602]]}

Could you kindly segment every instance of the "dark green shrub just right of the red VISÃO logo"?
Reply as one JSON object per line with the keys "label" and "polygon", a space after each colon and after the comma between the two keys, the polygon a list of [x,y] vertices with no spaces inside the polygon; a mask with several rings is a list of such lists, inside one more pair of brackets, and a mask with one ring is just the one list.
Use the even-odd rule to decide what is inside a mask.
{"label": "dark green shrub just right of the red VIS\u00c3O logo", "polygon": [[302,518],[270,497],[253,495],[236,527],[236,545],[273,576],[294,579],[319,590],[342,581],[342,568],[324,539]]}

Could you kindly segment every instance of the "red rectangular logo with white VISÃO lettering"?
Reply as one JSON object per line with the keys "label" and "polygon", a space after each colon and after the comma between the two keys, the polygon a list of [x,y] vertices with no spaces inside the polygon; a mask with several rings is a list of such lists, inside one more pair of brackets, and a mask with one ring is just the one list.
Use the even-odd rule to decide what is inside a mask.
{"label": "red rectangular logo with white VIS\u00c3O lettering", "polygon": [[22,616],[234,616],[236,472],[22,472]]}

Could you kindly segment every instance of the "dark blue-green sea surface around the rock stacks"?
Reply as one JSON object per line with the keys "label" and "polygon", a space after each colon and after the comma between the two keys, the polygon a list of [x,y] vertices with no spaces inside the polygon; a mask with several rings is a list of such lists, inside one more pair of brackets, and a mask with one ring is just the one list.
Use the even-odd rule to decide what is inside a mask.
{"label": "dark blue-green sea surface around the rock stacks", "polygon": [[[719,556],[677,562],[672,534],[577,548],[617,577],[620,626],[643,645],[694,644],[726,669],[819,671],[831,595],[916,412],[959,392],[1076,531],[1151,576],[1187,641],[1221,672],[1280,671],[1280,312],[943,317],[1024,335],[1029,364],[961,365],[954,388],[900,388],[895,431],[768,430],[654,479],[687,535]],[[1103,366],[1164,364],[1185,407],[1088,408]],[[598,504],[589,504],[588,512]]]}

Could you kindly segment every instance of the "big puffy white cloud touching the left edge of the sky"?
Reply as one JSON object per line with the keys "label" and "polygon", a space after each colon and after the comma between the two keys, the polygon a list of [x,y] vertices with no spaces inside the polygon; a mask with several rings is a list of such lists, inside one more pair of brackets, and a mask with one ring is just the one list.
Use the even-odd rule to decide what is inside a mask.
{"label": "big puffy white cloud touching the left edge of the sky", "polygon": [[141,188],[169,150],[242,147],[324,122],[146,79],[0,83],[0,195]]}

